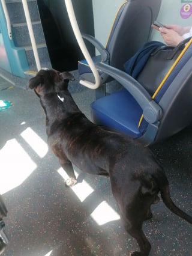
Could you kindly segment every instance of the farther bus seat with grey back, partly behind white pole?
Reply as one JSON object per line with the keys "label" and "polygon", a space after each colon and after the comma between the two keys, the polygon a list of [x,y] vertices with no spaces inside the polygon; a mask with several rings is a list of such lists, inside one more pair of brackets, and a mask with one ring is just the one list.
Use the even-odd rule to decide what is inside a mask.
{"label": "farther bus seat with grey back, partly behind white pole", "polygon": [[[91,35],[82,34],[100,52],[93,58],[94,62],[102,61],[117,69],[124,70],[123,64],[149,40],[151,24],[157,18],[161,0],[130,0],[119,8],[106,47]],[[82,79],[94,82],[94,76],[86,60],[79,61],[79,75]],[[112,78],[100,72],[101,84]]]}

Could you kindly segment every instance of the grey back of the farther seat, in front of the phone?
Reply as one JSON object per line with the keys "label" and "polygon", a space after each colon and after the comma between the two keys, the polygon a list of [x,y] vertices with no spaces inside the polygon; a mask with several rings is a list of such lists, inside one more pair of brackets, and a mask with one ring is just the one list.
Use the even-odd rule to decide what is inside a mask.
{"label": "grey back of the farther seat, in front of the phone", "polygon": [[124,62],[149,40],[160,6],[161,0],[131,0],[119,9],[106,46],[110,66],[123,70]]}

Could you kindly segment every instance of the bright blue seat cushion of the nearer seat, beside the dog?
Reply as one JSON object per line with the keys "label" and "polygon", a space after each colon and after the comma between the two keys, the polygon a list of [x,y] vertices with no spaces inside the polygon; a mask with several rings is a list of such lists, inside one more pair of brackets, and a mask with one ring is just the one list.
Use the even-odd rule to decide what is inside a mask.
{"label": "bright blue seat cushion of the nearer seat, beside the dog", "polygon": [[142,135],[138,124],[143,111],[127,90],[100,98],[91,104],[91,117],[95,124],[111,127],[133,138]]}

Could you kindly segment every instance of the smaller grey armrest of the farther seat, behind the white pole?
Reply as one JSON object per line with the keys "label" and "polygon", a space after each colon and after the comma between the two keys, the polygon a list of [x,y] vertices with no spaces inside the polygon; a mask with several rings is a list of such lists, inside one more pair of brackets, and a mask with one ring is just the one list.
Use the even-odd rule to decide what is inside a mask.
{"label": "smaller grey armrest of the farther seat, behind the white pole", "polygon": [[100,41],[98,41],[95,37],[93,37],[92,35],[88,35],[88,34],[84,34],[82,33],[82,37],[85,38],[86,40],[88,40],[91,44],[93,44],[95,46],[95,48],[98,50],[98,52],[101,55],[101,59],[103,61],[107,61],[109,60],[109,52],[107,52],[107,50],[105,49],[105,47],[103,46],[103,44],[100,43]]}

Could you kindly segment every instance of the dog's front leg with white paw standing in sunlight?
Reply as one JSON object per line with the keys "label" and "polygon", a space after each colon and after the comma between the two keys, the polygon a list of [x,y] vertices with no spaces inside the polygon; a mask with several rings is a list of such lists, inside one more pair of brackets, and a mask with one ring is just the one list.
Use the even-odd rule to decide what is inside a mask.
{"label": "dog's front leg with white paw standing in sunlight", "polygon": [[77,183],[76,175],[74,174],[73,165],[68,159],[59,159],[59,162],[61,164],[61,167],[64,169],[65,172],[67,172],[67,175],[69,178],[65,180],[65,184],[67,187],[73,187],[74,184]]}

